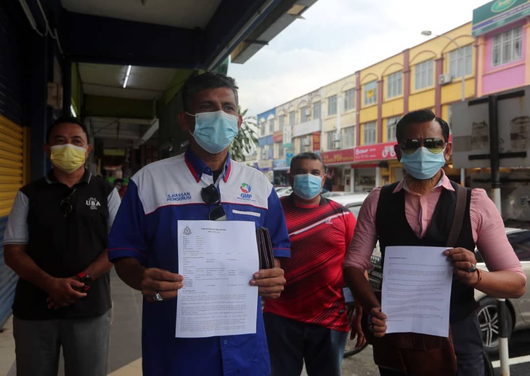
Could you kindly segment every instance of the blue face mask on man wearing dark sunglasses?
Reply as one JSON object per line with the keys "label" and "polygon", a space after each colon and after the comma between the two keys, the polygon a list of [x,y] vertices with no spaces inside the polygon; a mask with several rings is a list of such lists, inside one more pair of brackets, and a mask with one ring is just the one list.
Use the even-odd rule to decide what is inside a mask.
{"label": "blue face mask on man wearing dark sunglasses", "polygon": [[436,175],[441,167],[444,167],[444,150],[434,154],[422,146],[412,154],[402,154],[400,162],[412,177],[427,180]]}

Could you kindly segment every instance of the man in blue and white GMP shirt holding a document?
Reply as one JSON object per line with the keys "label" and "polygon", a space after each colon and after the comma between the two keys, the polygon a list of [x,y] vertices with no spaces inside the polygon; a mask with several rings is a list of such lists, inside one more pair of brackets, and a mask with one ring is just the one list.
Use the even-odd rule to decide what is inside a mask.
{"label": "man in blue and white GMP shirt holding a document", "polygon": [[[241,126],[237,86],[207,72],[182,88],[178,120],[188,133],[184,154],[147,165],[131,177],[109,237],[109,258],[121,279],[144,294],[144,375],[270,374],[261,301],[255,334],[175,338],[178,290],[178,220],[251,221],[269,229],[275,257],[289,257],[289,237],[276,191],[256,169],[237,163],[228,147]],[[231,249],[230,243],[225,244]],[[276,267],[249,275],[263,298],[277,298],[284,272]]]}

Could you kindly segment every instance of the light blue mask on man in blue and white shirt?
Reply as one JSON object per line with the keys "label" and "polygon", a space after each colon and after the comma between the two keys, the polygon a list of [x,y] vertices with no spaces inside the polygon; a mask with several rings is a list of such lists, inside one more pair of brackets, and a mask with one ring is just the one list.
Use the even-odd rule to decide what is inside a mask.
{"label": "light blue mask on man in blue and white shirt", "polygon": [[195,117],[195,131],[190,134],[210,154],[220,153],[237,136],[237,117],[223,110],[187,114]]}

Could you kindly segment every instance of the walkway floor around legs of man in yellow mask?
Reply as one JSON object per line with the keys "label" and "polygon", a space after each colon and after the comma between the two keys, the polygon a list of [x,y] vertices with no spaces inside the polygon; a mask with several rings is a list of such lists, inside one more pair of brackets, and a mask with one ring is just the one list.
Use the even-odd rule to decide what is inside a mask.
{"label": "walkway floor around legs of man in yellow mask", "polygon": [[[110,277],[113,303],[110,330],[109,375],[142,375],[142,294],[123,283],[114,269]],[[10,318],[0,333],[0,376],[15,376],[15,342]],[[64,363],[59,363],[64,376]]]}

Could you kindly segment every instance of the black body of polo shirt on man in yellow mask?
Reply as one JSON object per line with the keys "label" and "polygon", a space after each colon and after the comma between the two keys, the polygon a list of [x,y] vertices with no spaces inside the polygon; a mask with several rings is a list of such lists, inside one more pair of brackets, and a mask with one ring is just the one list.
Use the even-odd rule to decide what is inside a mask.
{"label": "black body of polo shirt on man in yellow mask", "polygon": [[[43,271],[54,277],[75,276],[107,248],[108,198],[112,190],[110,184],[89,171],[72,188],[58,182],[51,172],[22,187],[29,207],[27,253]],[[67,203],[61,205],[68,196],[71,212]],[[65,216],[65,212],[69,213]],[[93,281],[85,298],[58,310],[47,308],[45,291],[20,279],[13,314],[27,320],[102,315],[111,307],[109,278],[109,273],[102,275]]]}

